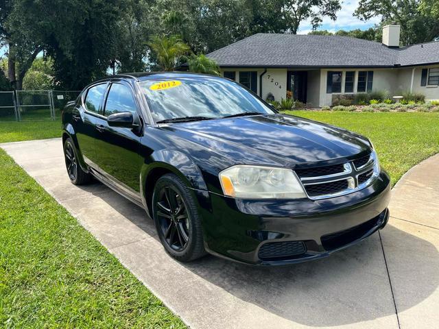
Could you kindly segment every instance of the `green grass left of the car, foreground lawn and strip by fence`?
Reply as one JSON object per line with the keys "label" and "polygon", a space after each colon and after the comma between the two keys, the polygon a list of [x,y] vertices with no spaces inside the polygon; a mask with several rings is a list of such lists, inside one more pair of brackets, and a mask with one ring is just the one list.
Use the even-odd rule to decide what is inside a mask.
{"label": "green grass left of the car, foreground lawn and strip by fence", "polygon": [[[1,142],[57,136],[0,124]],[[0,328],[185,328],[2,149],[0,168]]]}

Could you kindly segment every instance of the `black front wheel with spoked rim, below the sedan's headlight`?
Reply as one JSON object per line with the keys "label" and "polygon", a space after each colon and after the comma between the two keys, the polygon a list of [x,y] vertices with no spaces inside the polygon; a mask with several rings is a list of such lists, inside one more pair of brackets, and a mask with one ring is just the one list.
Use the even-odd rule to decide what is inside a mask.
{"label": "black front wheel with spoked rim, below the sedan's headlight", "polygon": [[201,220],[189,188],[177,175],[163,175],[154,186],[152,216],[166,252],[189,262],[206,254]]}

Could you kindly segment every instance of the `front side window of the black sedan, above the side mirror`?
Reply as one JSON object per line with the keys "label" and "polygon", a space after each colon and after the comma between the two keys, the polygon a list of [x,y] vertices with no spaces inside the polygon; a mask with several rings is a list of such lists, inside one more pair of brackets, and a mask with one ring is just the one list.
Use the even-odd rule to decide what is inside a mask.
{"label": "front side window of the black sedan, above the side mirror", "polygon": [[137,112],[136,102],[128,86],[112,84],[105,103],[104,116],[119,112]]}

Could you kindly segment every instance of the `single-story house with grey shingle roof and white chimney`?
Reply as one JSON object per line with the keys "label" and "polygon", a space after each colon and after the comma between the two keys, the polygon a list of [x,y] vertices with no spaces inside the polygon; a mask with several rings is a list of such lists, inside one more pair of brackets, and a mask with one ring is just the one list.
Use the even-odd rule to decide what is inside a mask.
{"label": "single-story house with grey shingle roof and white chimney", "polygon": [[311,106],[387,90],[439,99],[439,42],[399,47],[399,25],[383,27],[383,42],[346,36],[254,34],[209,53],[224,77],[280,101],[289,90]]}

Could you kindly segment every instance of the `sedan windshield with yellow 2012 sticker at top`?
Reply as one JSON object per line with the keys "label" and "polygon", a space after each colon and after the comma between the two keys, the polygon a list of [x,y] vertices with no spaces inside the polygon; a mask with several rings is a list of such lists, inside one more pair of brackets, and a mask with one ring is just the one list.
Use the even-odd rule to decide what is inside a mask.
{"label": "sedan windshield with yellow 2012 sticker at top", "polygon": [[219,77],[144,80],[140,86],[156,122],[274,113],[246,88]]}

